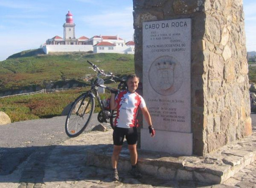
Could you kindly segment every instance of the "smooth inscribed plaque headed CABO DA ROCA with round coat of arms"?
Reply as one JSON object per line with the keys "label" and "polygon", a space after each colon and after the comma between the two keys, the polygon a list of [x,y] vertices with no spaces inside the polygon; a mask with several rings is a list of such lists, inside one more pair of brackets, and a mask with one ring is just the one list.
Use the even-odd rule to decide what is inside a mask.
{"label": "smooth inscribed plaque headed CABO DA ROCA with round coat of arms", "polygon": [[156,129],[191,132],[191,19],[143,22],[143,98]]}

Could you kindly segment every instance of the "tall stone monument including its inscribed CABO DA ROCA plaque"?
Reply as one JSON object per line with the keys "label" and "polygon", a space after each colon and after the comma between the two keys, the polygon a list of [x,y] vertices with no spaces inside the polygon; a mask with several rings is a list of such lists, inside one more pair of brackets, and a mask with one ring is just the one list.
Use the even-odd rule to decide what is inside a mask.
{"label": "tall stone monument including its inscribed CABO DA ROCA plaque", "polygon": [[141,149],[205,155],[250,135],[243,2],[133,2],[138,92],[157,132],[143,123]]}

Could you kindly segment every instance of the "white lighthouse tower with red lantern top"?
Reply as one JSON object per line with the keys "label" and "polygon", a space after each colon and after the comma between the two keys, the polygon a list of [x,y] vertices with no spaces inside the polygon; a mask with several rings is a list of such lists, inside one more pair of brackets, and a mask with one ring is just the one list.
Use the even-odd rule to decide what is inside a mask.
{"label": "white lighthouse tower with red lantern top", "polygon": [[68,14],[66,14],[66,23],[63,25],[63,38],[66,40],[66,44],[76,44],[75,26],[73,14],[69,11]]}

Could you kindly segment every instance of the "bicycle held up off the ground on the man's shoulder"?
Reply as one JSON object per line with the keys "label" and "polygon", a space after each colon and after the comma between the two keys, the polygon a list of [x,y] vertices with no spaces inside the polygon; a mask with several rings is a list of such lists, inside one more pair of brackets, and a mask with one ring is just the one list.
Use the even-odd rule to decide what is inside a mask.
{"label": "bicycle held up off the ground on the man's shoulder", "polygon": [[[71,109],[68,113],[65,123],[65,130],[69,137],[76,137],[81,134],[84,129],[86,129],[95,110],[95,98],[97,99],[101,109],[98,113],[97,120],[100,123],[107,122],[106,120],[110,120],[110,125],[112,129],[114,129],[116,110],[111,110],[107,104],[107,101],[100,99],[98,89],[103,88],[115,92],[126,89],[126,82],[124,79],[119,79],[112,73],[105,74],[104,70],[100,70],[97,65],[90,61],[87,62],[93,66],[89,68],[92,68],[94,72],[97,73],[97,76],[94,82],[91,84],[91,89],[82,93],[71,105]],[[101,76],[109,77],[109,80],[111,81],[114,81],[114,78],[119,79],[120,83],[118,85],[118,89],[105,86],[104,80],[100,78]]]}

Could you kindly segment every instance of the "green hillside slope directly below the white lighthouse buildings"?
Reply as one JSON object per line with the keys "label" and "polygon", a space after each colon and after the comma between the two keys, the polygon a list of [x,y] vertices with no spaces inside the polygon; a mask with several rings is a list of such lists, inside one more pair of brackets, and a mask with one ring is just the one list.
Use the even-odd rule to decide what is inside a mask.
{"label": "green hillside slope directly below the white lighthouse buildings", "polygon": [[58,53],[44,55],[38,50],[24,51],[0,62],[0,93],[26,87],[44,87],[50,81],[82,80],[93,74],[87,60],[97,64],[105,72],[125,75],[134,73],[134,55]]}

